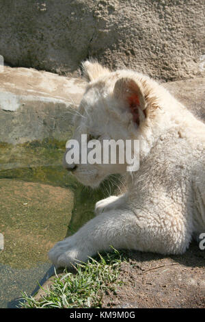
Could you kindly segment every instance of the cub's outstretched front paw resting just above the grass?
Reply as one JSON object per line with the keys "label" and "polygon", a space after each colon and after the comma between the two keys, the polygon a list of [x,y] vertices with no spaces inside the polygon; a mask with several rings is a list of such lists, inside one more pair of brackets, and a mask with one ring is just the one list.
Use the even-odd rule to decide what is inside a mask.
{"label": "cub's outstretched front paw resting just above the grass", "polygon": [[72,236],[61,240],[49,251],[49,259],[56,268],[72,267],[73,264],[83,262],[86,257],[85,252],[75,245]]}

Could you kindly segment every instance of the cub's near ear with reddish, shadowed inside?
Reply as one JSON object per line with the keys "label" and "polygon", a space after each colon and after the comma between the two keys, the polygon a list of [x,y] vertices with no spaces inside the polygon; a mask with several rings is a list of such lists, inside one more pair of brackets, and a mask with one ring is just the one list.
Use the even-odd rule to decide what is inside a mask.
{"label": "cub's near ear with reddish, shadowed inside", "polygon": [[141,85],[134,79],[122,77],[115,83],[114,97],[120,99],[133,114],[133,121],[139,125],[146,118],[146,101]]}

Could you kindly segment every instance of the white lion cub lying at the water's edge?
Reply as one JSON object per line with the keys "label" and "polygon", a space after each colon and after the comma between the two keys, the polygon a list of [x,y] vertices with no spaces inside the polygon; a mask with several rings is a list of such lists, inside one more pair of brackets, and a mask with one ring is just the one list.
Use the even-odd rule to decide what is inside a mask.
{"label": "white lion cub lying at the water's edge", "polygon": [[98,251],[136,249],[184,253],[205,232],[205,125],[162,86],[135,71],[111,72],[83,64],[90,80],[74,119],[80,140],[136,139],[140,167],[66,164],[87,186],[112,173],[125,174],[127,190],[96,203],[97,216],[49,252],[55,267],[69,267]]}

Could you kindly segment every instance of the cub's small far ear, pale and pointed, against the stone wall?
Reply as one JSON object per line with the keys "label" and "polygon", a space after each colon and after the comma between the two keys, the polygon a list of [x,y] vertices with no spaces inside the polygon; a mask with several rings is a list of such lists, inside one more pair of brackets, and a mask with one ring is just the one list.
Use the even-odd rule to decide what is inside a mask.
{"label": "cub's small far ear, pale and pointed, against the stone wall", "polygon": [[110,73],[109,69],[103,67],[98,62],[86,60],[82,63],[83,75],[87,78],[89,82],[94,79]]}

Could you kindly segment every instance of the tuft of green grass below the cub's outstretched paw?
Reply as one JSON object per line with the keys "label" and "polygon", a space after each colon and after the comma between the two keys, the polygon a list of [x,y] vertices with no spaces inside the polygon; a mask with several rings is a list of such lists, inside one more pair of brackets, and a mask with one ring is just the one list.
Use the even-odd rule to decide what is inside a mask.
{"label": "tuft of green grass below the cub's outstretched paw", "polygon": [[[97,260],[90,258],[87,263],[77,264],[75,273],[64,271],[64,275],[53,279],[50,290],[44,290],[40,299],[23,294],[22,308],[100,308],[102,295],[107,290],[115,293],[119,284],[122,253],[98,255]],[[41,286],[40,286],[41,287]],[[41,287],[42,288],[42,287]]]}

